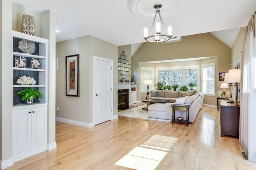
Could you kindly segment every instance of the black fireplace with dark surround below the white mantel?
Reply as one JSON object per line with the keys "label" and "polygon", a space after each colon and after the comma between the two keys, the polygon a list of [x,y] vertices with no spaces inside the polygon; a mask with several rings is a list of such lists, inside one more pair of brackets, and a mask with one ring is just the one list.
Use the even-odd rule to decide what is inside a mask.
{"label": "black fireplace with dark surround below the white mantel", "polygon": [[118,109],[124,110],[129,108],[129,89],[118,90]]}

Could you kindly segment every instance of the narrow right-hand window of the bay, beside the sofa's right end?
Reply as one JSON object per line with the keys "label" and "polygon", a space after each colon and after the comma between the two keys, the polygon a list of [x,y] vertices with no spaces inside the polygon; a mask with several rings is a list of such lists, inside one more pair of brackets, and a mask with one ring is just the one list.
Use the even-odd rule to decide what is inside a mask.
{"label": "narrow right-hand window of the bay, beside the sofa's right end", "polygon": [[215,63],[202,65],[202,92],[215,95]]}

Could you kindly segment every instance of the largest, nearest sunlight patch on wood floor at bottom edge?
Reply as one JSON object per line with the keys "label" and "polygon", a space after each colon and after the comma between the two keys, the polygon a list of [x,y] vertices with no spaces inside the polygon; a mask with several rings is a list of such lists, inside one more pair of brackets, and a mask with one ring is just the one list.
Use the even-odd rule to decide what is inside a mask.
{"label": "largest, nearest sunlight patch on wood floor at bottom edge", "polygon": [[167,152],[135,147],[128,154],[118,160],[115,165],[136,170],[154,170]]}

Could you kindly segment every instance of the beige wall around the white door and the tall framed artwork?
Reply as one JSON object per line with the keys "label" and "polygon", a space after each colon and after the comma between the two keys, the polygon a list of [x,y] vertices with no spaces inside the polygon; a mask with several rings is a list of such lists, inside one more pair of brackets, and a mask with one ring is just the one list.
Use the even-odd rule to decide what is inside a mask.
{"label": "beige wall around the white door and the tall framed artwork", "polygon": [[[118,47],[90,35],[56,43],[59,69],[56,72],[56,117],[92,123],[93,121],[93,56],[113,60],[113,115],[117,115]],[[65,57],[79,54],[80,97],[66,96]]]}

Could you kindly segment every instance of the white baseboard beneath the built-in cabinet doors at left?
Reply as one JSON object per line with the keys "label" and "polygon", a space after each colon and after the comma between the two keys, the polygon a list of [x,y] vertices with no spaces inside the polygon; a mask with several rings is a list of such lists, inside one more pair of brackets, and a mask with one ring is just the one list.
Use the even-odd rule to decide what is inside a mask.
{"label": "white baseboard beneath the built-in cabinet doors at left", "polygon": [[17,162],[19,160],[28,158],[28,157],[38,154],[40,152],[44,152],[45,150],[47,150],[46,144],[42,145],[40,147],[36,147],[36,148],[30,149],[30,150],[27,150],[25,152],[18,153],[16,155],[12,155],[12,158],[13,158],[14,162]]}

